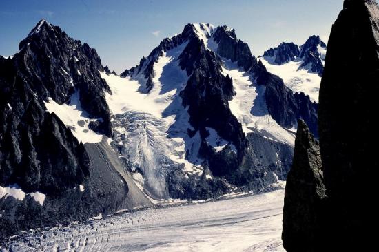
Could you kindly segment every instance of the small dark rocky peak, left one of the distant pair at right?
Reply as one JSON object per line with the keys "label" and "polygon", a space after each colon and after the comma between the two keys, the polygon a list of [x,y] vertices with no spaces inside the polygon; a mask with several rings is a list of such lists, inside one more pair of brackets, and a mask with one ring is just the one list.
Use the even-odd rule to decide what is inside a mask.
{"label": "small dark rocky peak, left one of the distant pair at right", "polygon": [[298,45],[294,43],[281,43],[277,48],[270,48],[263,56],[274,58],[276,65],[283,65],[289,61],[294,61],[300,54]]}

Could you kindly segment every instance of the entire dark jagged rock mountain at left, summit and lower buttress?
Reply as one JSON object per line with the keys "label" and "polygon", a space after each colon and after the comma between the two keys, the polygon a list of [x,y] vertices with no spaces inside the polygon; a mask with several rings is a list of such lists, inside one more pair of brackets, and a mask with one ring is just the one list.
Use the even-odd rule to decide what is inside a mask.
{"label": "entire dark jagged rock mountain at left, summit and lower buttress", "polygon": [[[74,103],[88,116],[89,129],[112,136],[101,60],[96,50],[41,20],[19,52],[0,64],[1,185],[59,196],[88,176],[88,154],[65,115],[48,106]],[[89,130],[73,123],[79,135]]]}

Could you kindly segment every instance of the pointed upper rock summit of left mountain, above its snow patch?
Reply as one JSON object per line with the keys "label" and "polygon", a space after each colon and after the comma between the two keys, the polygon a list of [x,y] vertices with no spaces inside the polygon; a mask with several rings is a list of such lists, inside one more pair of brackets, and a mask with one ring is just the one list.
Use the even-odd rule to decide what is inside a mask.
{"label": "pointed upper rock summit of left mountain, above its snow patch", "polygon": [[52,98],[62,104],[70,103],[71,95],[78,92],[81,107],[90,118],[99,119],[92,121],[90,127],[112,136],[105,101],[105,92],[110,92],[110,88],[99,74],[105,69],[96,50],[44,19],[21,41],[19,48],[13,60],[34,93],[44,101]]}

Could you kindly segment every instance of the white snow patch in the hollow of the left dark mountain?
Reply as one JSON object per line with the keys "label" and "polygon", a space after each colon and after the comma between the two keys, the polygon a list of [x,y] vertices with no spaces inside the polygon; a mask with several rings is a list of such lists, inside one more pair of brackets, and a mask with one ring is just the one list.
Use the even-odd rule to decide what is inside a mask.
{"label": "white snow patch in the hollow of the left dark mountain", "polygon": [[88,127],[91,121],[88,114],[82,109],[79,100],[79,91],[71,96],[70,104],[58,104],[52,98],[45,102],[48,112],[55,113],[59,119],[71,129],[72,134],[82,143],[100,143],[103,135],[97,134]]}

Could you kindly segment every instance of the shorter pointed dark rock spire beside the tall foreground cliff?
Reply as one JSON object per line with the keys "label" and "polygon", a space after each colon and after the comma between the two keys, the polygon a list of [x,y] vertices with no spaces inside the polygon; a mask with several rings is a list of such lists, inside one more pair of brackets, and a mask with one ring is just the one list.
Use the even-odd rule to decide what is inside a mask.
{"label": "shorter pointed dark rock spire beside the tall foreground cliff", "polygon": [[287,251],[318,247],[325,193],[320,146],[304,121],[299,120],[294,162],[285,187],[283,246]]}

